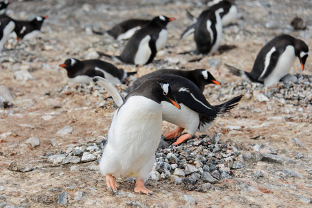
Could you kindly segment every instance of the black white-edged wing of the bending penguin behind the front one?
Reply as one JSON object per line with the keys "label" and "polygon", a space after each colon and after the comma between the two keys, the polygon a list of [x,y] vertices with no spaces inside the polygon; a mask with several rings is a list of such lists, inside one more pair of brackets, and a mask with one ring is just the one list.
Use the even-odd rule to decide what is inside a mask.
{"label": "black white-edged wing of the bending penguin behind the front one", "polygon": [[205,116],[216,116],[217,112],[215,111],[214,107],[210,105],[208,101],[206,101],[204,95],[202,97],[203,98],[199,98],[199,96],[189,92],[188,89],[181,88],[179,93],[176,94],[176,101],[183,103],[198,114]]}

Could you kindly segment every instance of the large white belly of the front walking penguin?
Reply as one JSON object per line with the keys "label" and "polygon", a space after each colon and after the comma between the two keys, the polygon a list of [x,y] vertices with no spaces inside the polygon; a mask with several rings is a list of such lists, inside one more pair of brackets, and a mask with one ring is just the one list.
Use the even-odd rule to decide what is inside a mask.
{"label": "large white belly of the front walking penguin", "polygon": [[161,123],[161,104],[143,96],[131,96],[110,124],[99,165],[101,173],[145,179],[161,140]]}

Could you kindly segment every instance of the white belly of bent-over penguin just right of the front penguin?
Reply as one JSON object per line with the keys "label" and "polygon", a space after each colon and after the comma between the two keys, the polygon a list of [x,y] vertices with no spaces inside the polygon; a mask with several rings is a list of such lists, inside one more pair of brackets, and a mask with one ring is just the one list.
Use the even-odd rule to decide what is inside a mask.
{"label": "white belly of bent-over penguin just right of the front penguin", "polygon": [[197,112],[190,110],[183,103],[180,103],[181,110],[167,102],[161,102],[161,104],[163,104],[163,120],[185,128],[188,133],[195,135],[199,125],[199,115]]}

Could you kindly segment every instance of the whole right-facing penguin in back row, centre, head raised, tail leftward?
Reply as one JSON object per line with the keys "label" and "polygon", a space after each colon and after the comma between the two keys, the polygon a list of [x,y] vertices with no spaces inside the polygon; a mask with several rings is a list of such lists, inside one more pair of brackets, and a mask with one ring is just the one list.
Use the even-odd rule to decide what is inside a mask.
{"label": "whole right-facing penguin in back row, centre, head raised, tail leftward", "polygon": [[124,51],[119,56],[99,53],[109,58],[117,58],[126,64],[149,64],[158,50],[163,49],[167,42],[167,24],[174,18],[163,15],[154,17],[149,23],[137,31],[127,42]]}

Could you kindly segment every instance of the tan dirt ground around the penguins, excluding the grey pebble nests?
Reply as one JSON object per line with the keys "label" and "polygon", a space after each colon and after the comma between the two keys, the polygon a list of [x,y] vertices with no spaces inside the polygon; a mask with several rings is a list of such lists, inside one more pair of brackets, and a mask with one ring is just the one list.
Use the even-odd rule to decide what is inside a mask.
{"label": "tan dirt ground around the penguins, excluding the grey pebble nests", "polygon": [[[252,144],[267,144],[277,155],[295,161],[282,164],[246,162],[244,168],[233,171],[232,179],[222,180],[215,184],[214,190],[206,193],[187,191],[183,185],[175,185],[170,180],[149,180],[147,188],[155,194],[145,196],[134,193],[133,183],[119,179],[124,195],[114,196],[106,189],[105,177],[90,168],[97,162],[78,164],[80,171],[71,171],[77,164],[56,166],[47,162],[49,155],[64,153],[73,144],[88,144],[106,136],[116,109],[111,101],[109,105],[97,107],[102,97],[79,91],[79,85],[67,85],[66,71],[58,67],[67,58],[82,60],[92,51],[120,54],[124,43],[108,35],[92,34],[88,28],[104,31],[132,17],[175,17],[176,20],[167,26],[167,46],[158,52],[154,63],[138,67],[115,65],[126,71],[138,71],[137,76],[161,68],[208,69],[222,83],[221,86],[207,86],[204,93],[215,105],[223,100],[213,96],[214,92],[241,83],[240,78],[227,71],[224,63],[251,70],[261,47],[280,33],[300,38],[312,49],[311,1],[236,1],[240,19],[233,26],[224,28],[222,36],[222,44],[235,45],[236,49],[204,56],[199,61],[191,61],[198,56],[178,54],[195,49],[191,37],[179,40],[179,35],[190,24],[186,9],[199,15],[204,6],[195,3],[197,1],[150,2],[45,0],[14,1],[10,5],[8,14],[13,17],[27,19],[34,15],[49,15],[49,18],[44,21],[37,40],[19,45],[10,42],[7,46],[14,46],[14,49],[0,53],[0,85],[6,85],[15,96],[12,107],[0,109],[0,207],[311,207],[311,101],[287,105],[276,100],[259,102],[255,96],[245,96],[238,107],[217,118],[206,132],[198,132],[197,135],[218,132],[222,141],[231,139],[244,153],[254,153]],[[305,31],[293,31],[290,21],[296,16],[309,25]],[[212,66],[209,60],[220,61],[220,64]],[[15,79],[14,73],[19,70],[29,71],[34,79]],[[296,60],[291,73],[310,76],[312,59],[307,59],[304,71]],[[233,94],[223,97],[230,98]],[[291,119],[285,119],[289,115]],[[57,135],[56,132],[66,125],[74,131]],[[240,129],[230,131],[229,125],[240,126]],[[163,122],[163,132],[174,128]],[[261,139],[251,139],[256,136]],[[30,137],[40,139],[40,145],[27,144],[26,139]],[[293,144],[291,139],[294,137],[304,146]],[[303,157],[298,159],[297,153]],[[9,166],[14,162],[17,166],[34,169],[10,171]],[[291,169],[303,177],[283,177],[280,174],[283,169]],[[264,177],[254,180],[252,173],[255,170],[263,171]],[[250,189],[238,185],[242,183]],[[60,205],[59,196],[64,191],[68,194],[68,202]],[[79,193],[82,198],[75,200]],[[195,198],[197,204],[189,205],[183,199],[185,194]]]}

